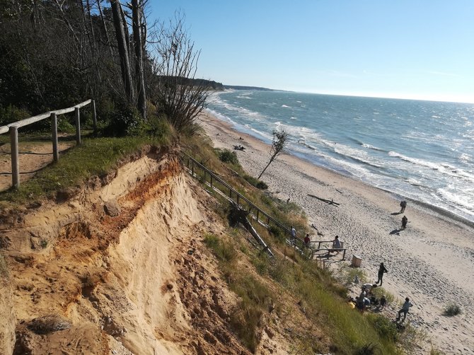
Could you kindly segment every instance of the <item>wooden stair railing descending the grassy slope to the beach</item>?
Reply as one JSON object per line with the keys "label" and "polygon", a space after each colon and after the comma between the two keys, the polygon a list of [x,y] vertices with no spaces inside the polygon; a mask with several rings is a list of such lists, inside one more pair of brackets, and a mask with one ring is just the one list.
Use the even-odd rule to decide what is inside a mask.
{"label": "wooden stair railing descending the grassy slope to the beach", "polygon": [[[307,246],[304,243],[303,239],[299,237],[296,237],[296,238],[292,237],[290,228],[288,228],[287,226],[284,226],[284,224],[280,223],[277,219],[270,216],[270,214],[267,214],[267,212],[263,211],[262,209],[260,209],[260,207],[253,204],[253,202],[251,202],[249,199],[243,196],[243,194],[241,194],[240,192],[236,191],[233,187],[231,187],[231,185],[229,185],[227,182],[222,180],[212,170],[209,170],[204,165],[196,161],[195,158],[192,158],[191,156],[188,156],[187,154],[184,154],[183,157],[184,157],[184,163],[186,167],[190,170],[190,173],[192,176],[195,176],[196,169],[202,170],[204,174],[203,180],[206,182],[209,181],[210,187],[214,188],[216,185],[216,182],[218,182],[220,185],[222,185],[222,187],[224,187],[223,189],[218,189],[218,190],[221,190],[223,194],[225,194],[229,199],[232,199],[234,202],[236,202],[236,204],[246,204],[249,213],[253,215],[253,218],[256,221],[258,221],[258,223],[262,223],[263,225],[269,226],[271,222],[274,224],[274,226],[277,226],[277,228],[280,228],[287,235],[288,243],[294,248],[297,248],[298,250],[300,250],[301,253],[303,254],[307,253],[310,259],[313,259],[313,257],[317,255],[318,252],[321,252],[321,251],[328,252],[328,256],[329,256],[329,252],[340,251],[342,252],[342,260],[345,260],[346,250],[344,248],[337,249],[337,250],[333,248],[320,248],[321,243],[329,243],[329,242],[332,243],[332,241],[330,240],[313,241],[310,243],[309,246]],[[208,176],[209,176],[209,180],[208,180]],[[266,219],[266,223],[264,220],[260,219],[260,217],[262,216]],[[318,243],[318,248],[313,247],[313,245],[316,245],[316,243]]]}

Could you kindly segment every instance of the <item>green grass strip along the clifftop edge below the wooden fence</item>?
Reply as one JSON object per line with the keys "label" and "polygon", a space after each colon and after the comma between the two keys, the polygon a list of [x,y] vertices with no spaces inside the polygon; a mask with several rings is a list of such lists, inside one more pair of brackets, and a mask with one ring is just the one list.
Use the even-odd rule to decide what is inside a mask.
{"label": "green grass strip along the clifftop edge below the wooden fence", "polygon": [[57,191],[81,185],[93,175],[105,175],[127,154],[135,153],[151,141],[143,137],[83,139],[81,146],[64,153],[59,162],[40,170],[23,182],[19,190],[0,192],[0,200],[25,204],[53,197]]}

